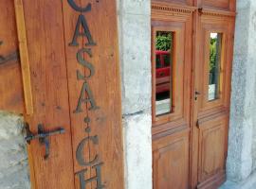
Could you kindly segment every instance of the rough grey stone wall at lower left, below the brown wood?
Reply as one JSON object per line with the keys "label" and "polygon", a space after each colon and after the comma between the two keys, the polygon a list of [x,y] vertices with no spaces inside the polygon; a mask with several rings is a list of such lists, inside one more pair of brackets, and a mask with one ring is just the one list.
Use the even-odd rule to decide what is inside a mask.
{"label": "rough grey stone wall at lower left, below the brown wood", "polygon": [[27,150],[21,116],[0,112],[0,188],[28,189]]}

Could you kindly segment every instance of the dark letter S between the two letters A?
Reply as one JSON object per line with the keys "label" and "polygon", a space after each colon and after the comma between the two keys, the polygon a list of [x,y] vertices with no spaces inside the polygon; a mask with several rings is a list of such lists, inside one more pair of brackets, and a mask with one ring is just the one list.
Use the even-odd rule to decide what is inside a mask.
{"label": "dark letter S between the two letters A", "polygon": [[91,64],[90,62],[83,60],[83,53],[87,53],[89,55],[90,58],[92,58],[92,52],[90,48],[82,48],[81,50],[79,50],[79,52],[77,53],[77,60],[78,62],[83,66],[86,67],[90,70],[90,74],[89,76],[82,76],[81,72],[79,70],[77,70],[77,77],[79,80],[86,80],[86,78],[90,78],[94,76],[94,66],[93,64]]}

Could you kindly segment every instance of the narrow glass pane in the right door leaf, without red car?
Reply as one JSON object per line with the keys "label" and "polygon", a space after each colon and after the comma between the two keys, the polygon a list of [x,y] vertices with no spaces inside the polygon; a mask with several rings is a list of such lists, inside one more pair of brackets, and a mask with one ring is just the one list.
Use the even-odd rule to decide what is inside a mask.
{"label": "narrow glass pane in the right door leaf, without red car", "polygon": [[209,96],[208,100],[219,98],[222,34],[210,33]]}

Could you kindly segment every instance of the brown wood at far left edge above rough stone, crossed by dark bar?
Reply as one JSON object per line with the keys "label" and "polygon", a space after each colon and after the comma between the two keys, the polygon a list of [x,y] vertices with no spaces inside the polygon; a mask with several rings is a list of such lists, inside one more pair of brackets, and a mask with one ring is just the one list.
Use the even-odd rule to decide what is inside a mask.
{"label": "brown wood at far left edge above rough stone, crossed by dark bar", "polygon": [[[19,50],[13,1],[0,2],[0,56]],[[0,65],[0,110],[23,113],[24,94],[21,66],[18,59]]]}

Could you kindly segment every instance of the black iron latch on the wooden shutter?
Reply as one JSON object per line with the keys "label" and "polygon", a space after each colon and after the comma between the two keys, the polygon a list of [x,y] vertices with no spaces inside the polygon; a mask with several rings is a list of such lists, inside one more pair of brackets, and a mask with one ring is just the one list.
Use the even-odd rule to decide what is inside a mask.
{"label": "black iron latch on the wooden shutter", "polygon": [[60,128],[60,129],[56,129],[56,130],[46,132],[44,130],[43,124],[39,124],[37,128],[38,128],[38,133],[33,134],[30,131],[28,124],[26,124],[25,129],[27,131],[27,136],[25,137],[25,140],[27,141],[28,145],[30,145],[31,140],[35,140],[35,139],[38,139],[39,143],[41,145],[45,145],[46,146],[46,154],[45,154],[44,158],[46,160],[49,157],[49,140],[48,140],[48,137],[52,136],[52,135],[56,135],[56,134],[63,134],[65,130],[63,128]]}

